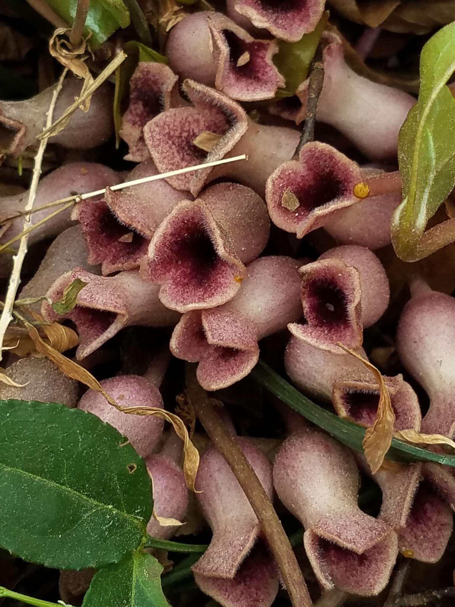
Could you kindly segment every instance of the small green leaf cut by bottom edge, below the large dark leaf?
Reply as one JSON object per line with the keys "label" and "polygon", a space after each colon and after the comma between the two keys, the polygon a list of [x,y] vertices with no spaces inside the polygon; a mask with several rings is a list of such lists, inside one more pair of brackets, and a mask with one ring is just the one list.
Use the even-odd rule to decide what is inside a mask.
{"label": "small green leaf cut by bottom edge, below the large dark leaf", "polygon": [[83,607],[169,607],[161,589],[163,567],[146,552],[133,552],[93,576]]}

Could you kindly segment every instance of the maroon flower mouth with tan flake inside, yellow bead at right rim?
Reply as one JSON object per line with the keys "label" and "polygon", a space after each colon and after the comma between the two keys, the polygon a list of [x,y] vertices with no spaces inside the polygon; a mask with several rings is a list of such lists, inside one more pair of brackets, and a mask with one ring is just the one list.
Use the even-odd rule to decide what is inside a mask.
{"label": "maroon flower mouth with tan flake inside, yellow bead at right rim", "polygon": [[307,143],[298,160],[279,166],[267,180],[266,202],[272,222],[302,238],[357,202],[352,188],[360,168],[326,143]]}

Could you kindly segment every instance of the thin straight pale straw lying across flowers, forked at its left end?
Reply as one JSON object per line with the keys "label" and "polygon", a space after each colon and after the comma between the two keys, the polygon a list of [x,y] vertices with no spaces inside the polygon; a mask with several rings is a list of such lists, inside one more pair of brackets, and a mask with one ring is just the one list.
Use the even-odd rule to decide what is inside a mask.
{"label": "thin straight pale straw lying across flowers, forked at its left end", "polygon": [[[236,162],[238,160],[248,160],[248,156],[246,156],[246,154],[241,154],[240,156],[234,156],[232,158],[223,158],[223,160],[215,160],[213,162],[195,164],[195,166],[188,166],[184,169],[176,169],[175,171],[168,171],[167,173],[160,173],[159,175],[150,175],[150,177],[142,177],[141,179],[135,179],[133,181],[126,181],[125,183],[118,183],[115,186],[111,186],[109,189],[112,191],[115,191],[118,189],[130,188],[131,186],[136,186],[136,185],[139,185],[140,183],[146,183],[147,181],[157,181],[159,179],[166,179],[167,177],[173,177],[174,175],[182,175],[184,173],[189,173],[191,171],[198,171],[199,169],[205,169],[205,168],[209,168],[211,166],[218,166],[218,164],[227,164],[230,162]],[[5,249],[7,249],[8,246],[10,246],[14,242],[16,242],[16,240],[20,240],[22,238],[22,236],[24,236],[24,234],[28,234],[29,232],[32,232],[34,229],[39,228],[39,226],[41,226],[43,223],[49,221],[49,219],[52,219],[52,217],[55,217],[55,215],[58,215],[62,211],[65,211],[65,209],[69,208],[70,206],[73,206],[75,203],[80,202],[81,200],[87,200],[87,198],[92,198],[93,196],[99,196],[100,194],[104,194],[105,192],[106,192],[106,188],[103,188],[103,189],[96,190],[96,192],[88,192],[87,194],[75,194],[74,196],[68,196],[67,198],[61,198],[61,200],[55,200],[54,202],[50,202],[47,205],[36,207],[36,209],[33,209],[28,214],[31,214],[32,212],[36,212],[36,211],[42,211],[42,209],[51,208],[52,206],[58,206],[63,203],[67,203],[62,208],[57,209],[57,211],[54,211],[50,215],[47,215],[47,217],[44,217],[43,219],[39,220],[39,222],[36,222],[34,225],[27,228],[27,230],[24,230],[23,232],[21,232],[21,234],[18,234],[11,240],[8,240],[8,242],[5,242],[4,245],[0,246],[0,253],[2,251],[5,251]],[[27,214],[26,212],[23,212],[23,213],[16,214],[12,217],[7,217],[7,219],[4,219],[0,223],[0,226],[4,225],[5,223],[12,222],[12,221],[18,219],[19,217],[24,217],[26,214]]]}

